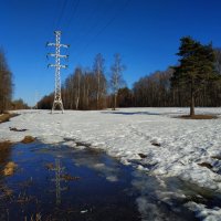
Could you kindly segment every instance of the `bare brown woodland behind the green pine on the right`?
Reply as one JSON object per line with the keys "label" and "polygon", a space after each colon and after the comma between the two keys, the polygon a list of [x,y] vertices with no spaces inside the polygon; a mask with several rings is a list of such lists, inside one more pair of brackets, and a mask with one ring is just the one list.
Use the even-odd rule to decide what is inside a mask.
{"label": "bare brown woodland behind the green pine on the right", "polygon": [[[187,107],[190,105],[186,88],[171,88],[173,70],[157,71],[141,77],[130,91],[135,107]],[[208,82],[196,97],[196,106],[221,106],[221,82]]]}

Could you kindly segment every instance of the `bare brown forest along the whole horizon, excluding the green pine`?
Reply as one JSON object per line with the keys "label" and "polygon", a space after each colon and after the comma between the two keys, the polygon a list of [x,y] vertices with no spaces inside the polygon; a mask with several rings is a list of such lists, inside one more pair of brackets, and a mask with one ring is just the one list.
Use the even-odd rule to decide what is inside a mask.
{"label": "bare brown forest along the whole horizon, excluding the green pine", "polygon": [[[192,40],[192,42],[201,45],[197,41]],[[209,48],[210,45],[206,45],[206,49]],[[212,49],[212,51],[214,53],[214,57],[211,60],[212,66],[220,76],[221,50]],[[202,52],[200,53],[202,54]],[[206,54],[204,57],[207,56]],[[177,66],[179,66],[179,62]],[[197,62],[199,63],[199,61]],[[177,84],[177,86],[172,86],[171,84],[176,66],[148,74],[135,82],[131,88],[128,88],[124,81],[123,75],[125,70],[126,66],[123,64],[120,54],[115,54],[113,65],[108,72],[105,69],[105,60],[101,53],[95,56],[91,70],[85,70],[81,66],[76,67],[62,84],[64,108],[86,110],[115,109],[115,107],[187,107],[190,105],[189,83],[186,85]],[[107,78],[107,72],[110,73],[108,74],[109,78]],[[6,109],[29,108],[22,99],[12,101],[12,73],[4,52],[0,50],[0,113],[3,113]],[[179,78],[179,82],[181,81],[182,78]],[[198,81],[200,82],[201,78],[196,78],[196,85]],[[53,93],[45,95],[38,102],[36,107],[51,109],[53,99]],[[221,106],[220,77],[215,81],[209,78],[208,81],[203,81],[200,90],[196,91],[194,105],[204,107]]]}

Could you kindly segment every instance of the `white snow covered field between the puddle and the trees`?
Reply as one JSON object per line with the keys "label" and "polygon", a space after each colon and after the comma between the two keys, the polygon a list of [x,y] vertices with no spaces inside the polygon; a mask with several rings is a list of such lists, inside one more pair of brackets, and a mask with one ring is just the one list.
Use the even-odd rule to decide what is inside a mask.
{"label": "white snow covered field between the puddle and the trees", "polygon": [[[221,118],[176,118],[188,114],[189,108],[66,110],[53,115],[49,110],[18,113],[21,115],[0,124],[0,140],[20,141],[31,135],[46,144],[64,143],[73,147],[81,141],[105,149],[124,164],[147,170],[159,180],[179,177],[221,193]],[[221,108],[197,108],[196,113],[220,115]],[[28,130],[11,131],[9,127]],[[212,167],[199,166],[202,162]],[[221,215],[220,208],[208,209],[193,202],[188,207],[199,211],[199,217],[206,220],[219,220]]]}

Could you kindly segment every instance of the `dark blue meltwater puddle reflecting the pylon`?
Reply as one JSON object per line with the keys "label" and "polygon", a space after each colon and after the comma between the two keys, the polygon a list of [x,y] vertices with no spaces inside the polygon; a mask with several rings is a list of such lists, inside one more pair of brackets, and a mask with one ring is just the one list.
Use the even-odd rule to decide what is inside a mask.
{"label": "dark blue meltwater puddle reflecting the pylon", "polygon": [[0,177],[0,220],[194,220],[158,200],[154,177],[102,151],[18,144],[1,160],[18,165]]}

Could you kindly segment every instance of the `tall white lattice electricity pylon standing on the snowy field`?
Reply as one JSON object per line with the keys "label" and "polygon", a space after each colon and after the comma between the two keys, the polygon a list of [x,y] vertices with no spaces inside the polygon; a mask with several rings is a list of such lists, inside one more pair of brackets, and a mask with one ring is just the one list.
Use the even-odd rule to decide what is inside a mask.
{"label": "tall white lattice electricity pylon standing on the snowy field", "polygon": [[67,65],[62,65],[60,63],[61,59],[67,59],[69,55],[61,55],[60,51],[61,48],[69,48],[69,44],[61,44],[61,31],[55,31],[55,41],[56,43],[48,43],[48,46],[55,46],[55,54],[53,53],[48,53],[48,56],[54,56],[55,57],[55,64],[49,64],[48,66],[53,66],[55,67],[55,90],[54,90],[54,102],[53,102],[53,106],[52,106],[52,113],[53,110],[56,108],[56,106],[59,106],[62,110],[62,114],[64,113],[64,106],[62,103],[62,95],[61,95],[61,75],[60,75],[60,71],[61,69],[66,69]]}

